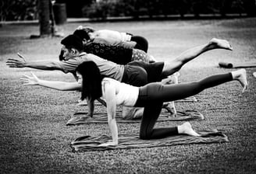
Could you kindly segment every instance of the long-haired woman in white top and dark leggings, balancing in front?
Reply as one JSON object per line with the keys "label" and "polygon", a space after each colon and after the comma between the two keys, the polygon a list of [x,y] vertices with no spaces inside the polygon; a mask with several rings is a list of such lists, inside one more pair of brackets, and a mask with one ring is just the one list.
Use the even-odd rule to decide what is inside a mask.
{"label": "long-haired woman in white top and dark leggings, balancing in front", "polygon": [[21,78],[24,85],[41,85],[58,90],[76,90],[82,85],[82,99],[94,101],[102,97],[107,103],[108,125],[112,133],[112,141],[101,146],[117,145],[118,131],[116,125],[116,106],[144,107],[140,124],[141,139],[157,139],[175,134],[200,136],[187,122],[177,127],[154,128],[156,120],[162,110],[162,103],[194,96],[204,89],[236,80],[244,89],[247,88],[246,71],[240,69],[220,75],[212,75],[197,82],[187,82],[175,85],[162,85],[154,82],[142,87],[135,87],[118,82],[112,78],[105,78],[100,74],[98,66],[93,61],[85,61],[76,68],[79,77],[77,82],[51,82],[32,77]]}

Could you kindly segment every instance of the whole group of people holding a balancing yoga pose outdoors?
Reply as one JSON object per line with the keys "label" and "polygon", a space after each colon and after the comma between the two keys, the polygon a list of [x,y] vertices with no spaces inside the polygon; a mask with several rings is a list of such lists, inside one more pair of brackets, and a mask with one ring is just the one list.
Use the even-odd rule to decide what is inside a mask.
{"label": "whole group of people holding a balancing yoga pose outdoors", "polygon": [[[247,88],[246,71],[240,69],[220,75],[212,75],[197,82],[169,84],[173,75],[184,64],[208,50],[233,50],[226,40],[213,38],[207,44],[184,51],[169,61],[156,61],[147,53],[148,41],[144,37],[112,30],[94,30],[79,26],[62,41],[59,61],[26,61],[25,57],[9,58],[10,68],[37,68],[72,73],[76,82],[45,81],[25,75],[24,85],[41,85],[57,90],[80,90],[81,99],[87,100],[88,113],[93,117],[94,100],[107,107],[108,126],[112,141],[101,146],[117,145],[116,106],[123,110],[141,113],[140,138],[156,139],[175,134],[200,136],[190,123],[177,127],[155,128],[163,103],[183,99],[225,82],[236,80]],[[131,46],[132,45],[132,46]],[[123,112],[123,115],[127,112]],[[80,119],[83,119],[81,117]]]}

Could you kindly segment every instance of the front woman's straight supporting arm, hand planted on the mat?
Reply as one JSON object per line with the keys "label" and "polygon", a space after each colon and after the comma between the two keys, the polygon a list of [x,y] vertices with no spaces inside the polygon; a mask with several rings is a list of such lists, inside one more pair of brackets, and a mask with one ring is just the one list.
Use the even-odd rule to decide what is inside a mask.
{"label": "front woman's straight supporting arm, hand planted on the mat", "polygon": [[108,113],[108,126],[112,134],[112,142],[100,144],[100,146],[117,145],[118,129],[116,125],[116,87],[109,82],[105,83],[105,94]]}

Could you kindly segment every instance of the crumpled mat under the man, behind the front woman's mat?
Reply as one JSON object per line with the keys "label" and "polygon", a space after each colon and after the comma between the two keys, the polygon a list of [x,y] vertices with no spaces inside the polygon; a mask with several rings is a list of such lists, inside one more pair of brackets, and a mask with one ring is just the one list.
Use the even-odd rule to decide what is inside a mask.
{"label": "crumpled mat under the man, behind the front woman's mat", "polygon": [[[107,113],[94,113],[94,117],[84,117],[87,113],[76,113],[68,122],[67,126],[78,124],[108,124]],[[169,113],[161,113],[158,118],[158,122],[162,121],[180,121],[180,120],[204,120],[204,116],[194,110],[186,110],[184,112],[177,112],[176,117],[169,117]],[[80,117],[84,117],[84,120],[80,120]],[[116,112],[116,122],[119,124],[134,124],[140,123],[140,119],[124,120],[121,116],[121,112]]]}

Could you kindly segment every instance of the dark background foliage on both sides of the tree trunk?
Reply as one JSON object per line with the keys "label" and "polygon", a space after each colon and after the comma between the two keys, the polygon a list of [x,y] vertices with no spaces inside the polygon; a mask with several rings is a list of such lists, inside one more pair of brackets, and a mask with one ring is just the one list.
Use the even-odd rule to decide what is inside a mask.
{"label": "dark background foliage on both sides of the tree trunk", "polygon": [[[168,16],[246,13],[256,16],[255,0],[57,0],[66,3],[68,17],[105,19],[109,16]],[[0,20],[37,19],[37,0],[0,1]]]}

